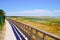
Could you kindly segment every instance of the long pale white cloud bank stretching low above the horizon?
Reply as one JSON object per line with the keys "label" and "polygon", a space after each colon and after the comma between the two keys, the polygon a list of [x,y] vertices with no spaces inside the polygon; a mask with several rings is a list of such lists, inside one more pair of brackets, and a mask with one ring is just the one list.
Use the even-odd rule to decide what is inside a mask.
{"label": "long pale white cloud bank stretching low above the horizon", "polygon": [[[16,16],[49,16],[56,14],[55,12],[60,12],[60,10],[24,10],[24,11],[17,11],[17,12],[10,12],[10,15]],[[7,14],[8,15],[8,14]]]}

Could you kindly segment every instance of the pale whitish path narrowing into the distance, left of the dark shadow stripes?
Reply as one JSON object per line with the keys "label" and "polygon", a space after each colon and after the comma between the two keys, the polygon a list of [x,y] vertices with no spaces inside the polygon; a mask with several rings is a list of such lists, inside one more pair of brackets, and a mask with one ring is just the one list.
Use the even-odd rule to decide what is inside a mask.
{"label": "pale whitish path narrowing into the distance, left of the dark shadow stripes", "polygon": [[5,38],[4,40],[16,40],[16,37],[12,31],[12,27],[10,26],[9,22],[6,21],[6,33],[5,33]]}

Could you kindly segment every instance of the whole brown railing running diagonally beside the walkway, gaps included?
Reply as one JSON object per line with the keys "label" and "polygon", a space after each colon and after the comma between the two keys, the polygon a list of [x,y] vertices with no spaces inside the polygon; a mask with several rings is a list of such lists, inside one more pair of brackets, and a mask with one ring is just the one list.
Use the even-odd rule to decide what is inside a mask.
{"label": "whole brown railing running diagonally beside the walkway, gaps included", "polygon": [[42,31],[38,28],[34,28],[33,26],[29,26],[22,22],[17,22],[15,20],[11,21],[15,25],[17,25],[17,27],[23,30],[27,35],[29,35],[33,40],[60,40],[60,37],[54,34],[50,34],[48,32]]}

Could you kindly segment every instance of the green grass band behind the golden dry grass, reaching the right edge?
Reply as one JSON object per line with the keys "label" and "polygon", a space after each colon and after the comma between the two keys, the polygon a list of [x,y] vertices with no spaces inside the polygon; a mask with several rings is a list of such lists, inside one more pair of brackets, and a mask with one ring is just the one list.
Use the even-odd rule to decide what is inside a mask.
{"label": "green grass band behind the golden dry grass, reaching the right edge", "polygon": [[39,22],[45,25],[49,26],[60,26],[60,20],[58,19],[38,19],[38,18],[23,18],[24,20],[29,20],[29,21],[34,21],[34,22]]}

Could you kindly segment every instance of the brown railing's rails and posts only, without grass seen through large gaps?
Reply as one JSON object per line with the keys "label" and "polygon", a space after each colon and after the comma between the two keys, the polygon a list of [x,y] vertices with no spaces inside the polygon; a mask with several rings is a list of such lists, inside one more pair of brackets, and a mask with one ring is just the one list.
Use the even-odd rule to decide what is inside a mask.
{"label": "brown railing's rails and posts only, without grass seen through large gaps", "polygon": [[[40,40],[40,36],[38,35],[38,32],[43,34],[43,37],[41,38],[41,40],[47,40],[47,37],[46,37],[46,36],[49,36],[49,37],[51,37],[51,38],[53,38],[53,39],[55,39],[55,40],[60,40],[60,37],[59,37],[59,36],[56,36],[56,35],[54,35],[54,34],[50,34],[50,33],[48,33],[48,32],[45,32],[45,31],[43,31],[43,30],[40,30],[40,29],[35,28],[35,27],[33,27],[33,26],[30,26],[30,25],[28,25],[28,24],[25,24],[25,23],[22,23],[22,22],[18,22],[18,21],[16,21],[16,20],[11,20],[11,21],[12,21],[14,24],[15,24],[15,23],[19,24],[19,25],[17,25],[17,24],[15,24],[15,25],[20,26],[20,28],[21,28],[23,31],[25,31],[28,35],[30,35],[31,37],[32,37],[32,35],[34,35],[34,36],[35,36],[35,39],[33,38],[34,40]],[[35,30],[35,33],[32,32],[33,30]]]}

